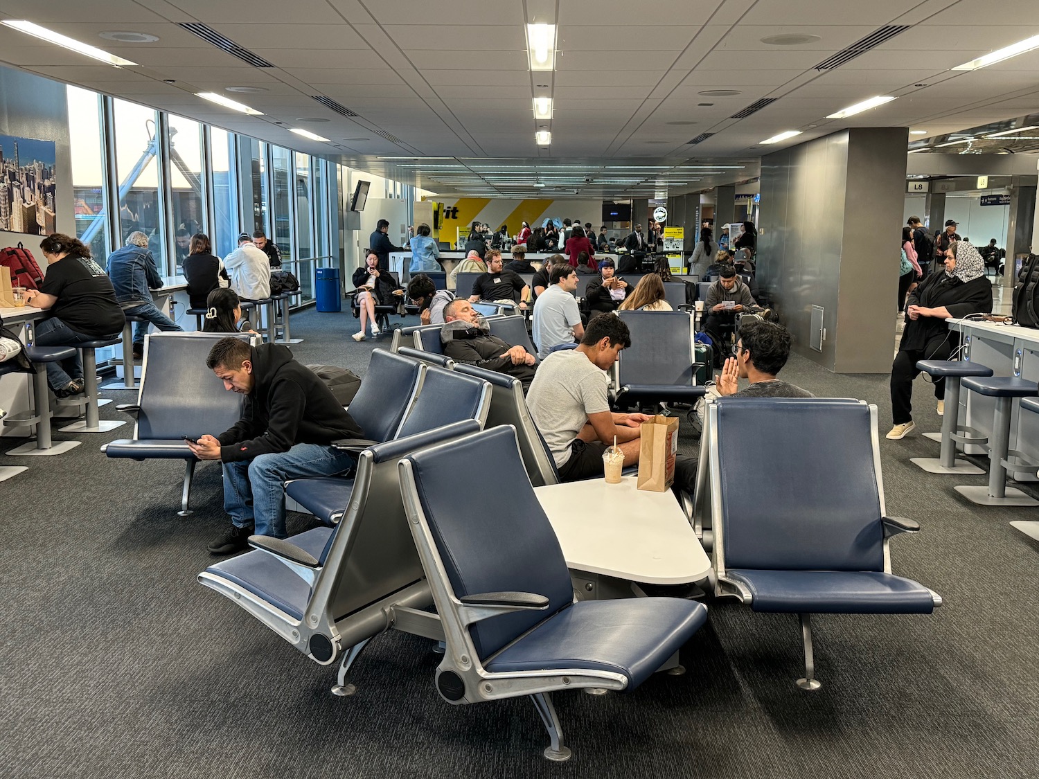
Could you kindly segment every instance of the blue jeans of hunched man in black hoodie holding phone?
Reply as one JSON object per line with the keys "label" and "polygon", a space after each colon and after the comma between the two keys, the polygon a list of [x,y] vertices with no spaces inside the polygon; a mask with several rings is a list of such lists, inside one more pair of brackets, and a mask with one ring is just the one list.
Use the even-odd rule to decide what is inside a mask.
{"label": "blue jeans of hunched man in black hoodie holding phone", "polygon": [[223,510],[237,528],[256,526],[256,535],[285,538],[285,489],[290,479],[334,476],[353,457],[320,444],[297,444],[288,452],[223,463]]}

